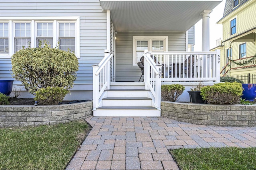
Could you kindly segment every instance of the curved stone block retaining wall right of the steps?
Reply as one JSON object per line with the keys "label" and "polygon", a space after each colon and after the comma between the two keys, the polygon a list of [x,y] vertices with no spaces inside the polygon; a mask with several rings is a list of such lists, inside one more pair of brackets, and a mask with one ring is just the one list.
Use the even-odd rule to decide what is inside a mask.
{"label": "curved stone block retaining wall right of the steps", "polygon": [[256,127],[256,105],[210,105],[162,101],[161,115],[181,122]]}

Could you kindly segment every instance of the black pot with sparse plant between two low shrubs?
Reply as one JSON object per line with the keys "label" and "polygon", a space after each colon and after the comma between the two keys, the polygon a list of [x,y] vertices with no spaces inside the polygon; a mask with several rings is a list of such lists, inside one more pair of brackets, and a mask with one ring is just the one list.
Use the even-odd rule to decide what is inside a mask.
{"label": "black pot with sparse plant between two low shrubs", "polygon": [[202,84],[202,82],[199,82],[198,85],[193,86],[190,88],[190,91],[188,91],[189,93],[189,98],[190,98],[190,102],[192,103],[206,103],[206,101],[204,101],[202,99],[201,96],[201,88],[204,87],[204,85]]}

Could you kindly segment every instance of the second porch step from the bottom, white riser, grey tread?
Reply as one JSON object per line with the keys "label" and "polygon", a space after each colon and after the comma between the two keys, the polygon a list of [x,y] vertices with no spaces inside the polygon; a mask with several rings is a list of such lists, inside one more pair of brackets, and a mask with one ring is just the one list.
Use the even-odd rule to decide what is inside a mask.
{"label": "second porch step from the bottom, white riser, grey tread", "polygon": [[148,97],[107,97],[102,99],[102,106],[152,106]]}

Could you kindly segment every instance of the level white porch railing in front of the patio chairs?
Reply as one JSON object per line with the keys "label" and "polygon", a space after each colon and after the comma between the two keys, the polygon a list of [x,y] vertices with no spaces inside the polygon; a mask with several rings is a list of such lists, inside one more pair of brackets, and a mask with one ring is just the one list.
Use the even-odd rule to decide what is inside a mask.
{"label": "level white porch railing in front of the patio chairs", "polygon": [[162,81],[220,81],[220,50],[149,53],[163,65]]}

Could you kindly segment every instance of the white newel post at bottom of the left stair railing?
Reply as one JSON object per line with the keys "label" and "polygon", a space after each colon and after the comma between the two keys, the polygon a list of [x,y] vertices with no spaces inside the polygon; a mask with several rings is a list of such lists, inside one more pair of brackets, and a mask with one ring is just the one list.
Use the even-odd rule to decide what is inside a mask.
{"label": "white newel post at bottom of the left stair railing", "polygon": [[92,65],[93,77],[93,110],[96,110],[99,104],[99,75],[96,75],[99,65]]}

